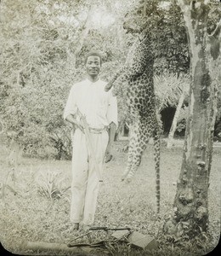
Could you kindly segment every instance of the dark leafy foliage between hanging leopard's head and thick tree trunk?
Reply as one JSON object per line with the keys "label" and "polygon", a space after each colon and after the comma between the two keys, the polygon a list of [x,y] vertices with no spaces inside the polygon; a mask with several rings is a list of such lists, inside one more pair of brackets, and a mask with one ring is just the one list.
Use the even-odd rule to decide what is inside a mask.
{"label": "dark leafy foliage between hanging leopard's head and thick tree trunk", "polygon": [[175,2],[141,0],[127,13],[124,27],[128,32],[151,33],[155,73],[188,73],[190,57],[184,19]]}

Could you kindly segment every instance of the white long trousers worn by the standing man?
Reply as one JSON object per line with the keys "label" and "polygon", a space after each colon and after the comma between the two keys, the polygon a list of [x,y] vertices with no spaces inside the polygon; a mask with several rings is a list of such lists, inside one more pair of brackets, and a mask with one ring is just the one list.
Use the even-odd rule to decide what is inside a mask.
{"label": "white long trousers worn by the standing man", "polygon": [[[90,133],[95,157],[100,170],[103,169],[108,132]],[[77,129],[73,135],[71,222],[93,224],[99,193],[98,170],[91,160],[85,135]]]}

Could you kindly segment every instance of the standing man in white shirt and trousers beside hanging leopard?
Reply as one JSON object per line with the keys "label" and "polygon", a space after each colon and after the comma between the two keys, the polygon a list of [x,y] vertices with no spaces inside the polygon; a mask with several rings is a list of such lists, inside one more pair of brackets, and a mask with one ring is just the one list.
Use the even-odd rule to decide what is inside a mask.
{"label": "standing man in white shirt and trousers beside hanging leopard", "polygon": [[[71,183],[71,223],[74,230],[79,229],[80,222],[84,230],[94,223],[99,180],[102,179],[100,172],[105,154],[111,150],[117,125],[116,97],[111,91],[105,92],[107,83],[99,79],[99,53],[89,53],[85,66],[87,79],[71,87],[64,112],[65,120],[76,128]],[[85,118],[88,130],[82,118]]]}

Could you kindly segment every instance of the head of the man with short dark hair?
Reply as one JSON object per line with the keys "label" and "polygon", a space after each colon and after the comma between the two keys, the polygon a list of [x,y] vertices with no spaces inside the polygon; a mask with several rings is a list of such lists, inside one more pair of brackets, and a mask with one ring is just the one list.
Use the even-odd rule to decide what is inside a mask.
{"label": "head of the man with short dark hair", "polygon": [[85,66],[86,71],[91,78],[98,77],[101,67],[101,55],[95,51],[89,52],[85,58]]}

